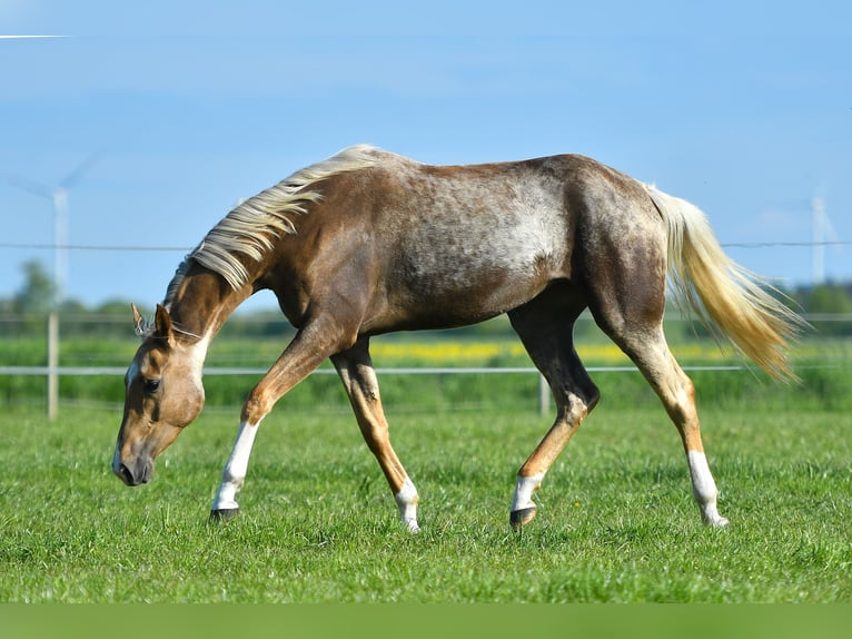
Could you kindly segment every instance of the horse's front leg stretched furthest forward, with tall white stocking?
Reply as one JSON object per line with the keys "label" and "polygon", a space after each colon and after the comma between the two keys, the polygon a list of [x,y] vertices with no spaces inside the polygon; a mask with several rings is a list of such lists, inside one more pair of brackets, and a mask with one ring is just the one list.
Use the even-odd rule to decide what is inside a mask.
{"label": "horse's front leg stretched furthest forward, with tall white stocking", "polygon": [[323,334],[328,332],[314,326],[299,331],[278,361],[249,393],[242,405],[237,440],[222,470],[221,482],[210,509],[211,519],[227,520],[239,511],[237,494],[246,481],[248,460],[260,422],[284,394],[338,347],[339,341],[316,338]]}

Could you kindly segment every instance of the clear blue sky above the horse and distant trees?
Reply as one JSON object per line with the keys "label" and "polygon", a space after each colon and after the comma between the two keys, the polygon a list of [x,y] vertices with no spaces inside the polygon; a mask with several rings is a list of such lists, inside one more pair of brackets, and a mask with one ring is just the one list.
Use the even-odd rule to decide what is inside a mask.
{"label": "clear blue sky above the horse and distant trees", "polygon": [[[852,4],[3,0],[0,297],[53,268],[67,295],[148,307],[240,198],[343,147],[435,164],[590,155],[690,199],[729,253],[813,277],[811,201],[852,240]],[[19,180],[20,184],[20,180]],[[75,247],[138,247],[143,250]],[[852,278],[852,245],[824,249]],[[273,306],[268,294],[249,308]]]}

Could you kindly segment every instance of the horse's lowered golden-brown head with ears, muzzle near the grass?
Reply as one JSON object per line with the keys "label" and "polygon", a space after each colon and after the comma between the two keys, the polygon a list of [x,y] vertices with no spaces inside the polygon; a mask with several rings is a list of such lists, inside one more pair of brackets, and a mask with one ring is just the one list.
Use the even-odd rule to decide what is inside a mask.
{"label": "horse's lowered golden-brown head with ears, muzzle near the grass", "polygon": [[127,485],[139,485],[151,479],[157,455],[201,412],[205,348],[176,338],[164,306],[157,305],[152,323],[132,309],[142,344],[125,375],[125,414],[112,472]]}

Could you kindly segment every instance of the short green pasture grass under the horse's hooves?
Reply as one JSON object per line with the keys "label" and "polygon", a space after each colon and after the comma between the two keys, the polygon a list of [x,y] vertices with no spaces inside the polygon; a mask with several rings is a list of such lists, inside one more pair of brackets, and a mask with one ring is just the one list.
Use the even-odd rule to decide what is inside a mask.
{"label": "short green pasture grass under the horse's hooves", "polygon": [[514,534],[514,474],[549,417],[399,403],[392,434],[423,499],[410,535],[339,392],[321,412],[288,401],[261,426],[239,517],[218,525],[207,513],[237,407],[206,412],[138,489],[109,470],[118,407],[66,406],[56,423],[6,411],[0,601],[852,600],[848,411],[704,402],[732,522],[713,530],[662,407],[605,394]]}

